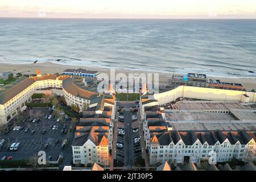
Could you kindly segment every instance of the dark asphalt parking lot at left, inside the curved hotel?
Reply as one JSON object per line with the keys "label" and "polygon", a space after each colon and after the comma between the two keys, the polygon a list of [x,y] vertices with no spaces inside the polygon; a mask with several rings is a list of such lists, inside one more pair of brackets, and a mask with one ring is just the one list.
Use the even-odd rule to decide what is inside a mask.
{"label": "dark asphalt parking lot at left, inside the curved hotel", "polygon": [[[47,156],[52,156],[52,160],[55,160],[61,152],[65,152],[67,147],[61,148],[61,146],[64,140],[72,141],[71,122],[57,122],[57,117],[48,119],[48,117],[45,118],[46,115],[53,115],[48,108],[35,107],[24,111],[21,121],[13,122],[13,127],[20,126],[21,129],[13,130],[13,127],[11,127],[8,134],[0,135],[0,140],[5,139],[0,149],[0,159],[3,156],[12,156],[13,159],[28,159],[31,156],[38,155],[38,151],[44,150]],[[36,119],[37,122],[32,122],[33,119]],[[53,130],[53,126],[59,128]],[[64,127],[65,133],[61,132]],[[28,131],[26,132],[26,130]],[[35,130],[34,133],[31,133],[32,130]],[[20,143],[18,150],[10,151],[10,145],[14,142]],[[46,144],[48,144],[47,148],[45,148]]]}

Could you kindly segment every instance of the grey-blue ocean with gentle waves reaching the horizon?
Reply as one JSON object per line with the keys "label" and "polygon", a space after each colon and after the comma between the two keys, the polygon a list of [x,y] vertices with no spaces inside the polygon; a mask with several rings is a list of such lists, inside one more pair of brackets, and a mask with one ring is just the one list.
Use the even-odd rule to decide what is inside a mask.
{"label": "grey-blue ocean with gentle waves reaching the horizon", "polygon": [[0,66],[36,60],[255,77],[256,20],[0,18]]}

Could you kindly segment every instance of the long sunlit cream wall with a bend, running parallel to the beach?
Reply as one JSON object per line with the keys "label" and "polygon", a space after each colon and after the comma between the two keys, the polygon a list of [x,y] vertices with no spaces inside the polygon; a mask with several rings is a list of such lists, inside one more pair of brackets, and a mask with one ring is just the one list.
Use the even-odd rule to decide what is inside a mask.
{"label": "long sunlit cream wall with a bend, running parallel to the beach", "polygon": [[[244,98],[243,94],[249,96]],[[201,88],[196,86],[179,86],[168,92],[155,94],[155,100],[158,104],[166,104],[175,101],[179,97],[196,98],[211,101],[237,101],[237,102],[256,102],[256,93],[243,92],[237,90]]]}

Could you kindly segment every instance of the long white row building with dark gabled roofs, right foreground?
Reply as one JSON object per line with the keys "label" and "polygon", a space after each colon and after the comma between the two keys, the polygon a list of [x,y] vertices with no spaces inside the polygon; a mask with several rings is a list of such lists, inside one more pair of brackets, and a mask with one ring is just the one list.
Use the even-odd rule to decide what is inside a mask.
{"label": "long white row building with dark gabled roofs, right foreground", "polygon": [[217,162],[232,158],[249,162],[256,158],[256,131],[174,130],[150,135],[150,164],[199,164],[209,160],[210,151],[216,152]]}

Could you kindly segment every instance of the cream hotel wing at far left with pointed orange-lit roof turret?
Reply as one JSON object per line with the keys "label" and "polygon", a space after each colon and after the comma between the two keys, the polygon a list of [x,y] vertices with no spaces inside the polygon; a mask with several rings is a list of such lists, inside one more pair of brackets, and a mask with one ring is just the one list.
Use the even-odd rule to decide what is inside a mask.
{"label": "cream hotel wing at far left with pointed orange-lit roof turret", "polygon": [[22,106],[31,102],[31,96],[39,89],[62,89],[62,82],[69,76],[42,75],[40,69],[36,76],[19,77],[11,84],[0,88],[0,125],[13,119]]}

